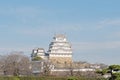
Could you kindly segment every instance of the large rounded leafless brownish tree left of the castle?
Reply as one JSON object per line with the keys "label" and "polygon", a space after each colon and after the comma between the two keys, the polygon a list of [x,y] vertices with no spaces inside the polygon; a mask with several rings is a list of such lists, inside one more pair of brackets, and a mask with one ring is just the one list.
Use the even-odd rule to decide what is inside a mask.
{"label": "large rounded leafless brownish tree left of the castle", "polygon": [[21,52],[12,52],[1,59],[4,75],[27,75],[30,73],[30,60]]}

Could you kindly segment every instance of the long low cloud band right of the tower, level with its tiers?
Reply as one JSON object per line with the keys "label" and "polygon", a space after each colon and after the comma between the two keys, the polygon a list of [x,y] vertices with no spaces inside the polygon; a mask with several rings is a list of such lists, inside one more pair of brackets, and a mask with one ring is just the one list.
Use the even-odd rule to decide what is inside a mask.
{"label": "long low cloud band right of the tower, level with its tiers", "polygon": [[108,50],[108,49],[118,49],[120,48],[120,41],[111,42],[79,42],[73,43],[73,48],[75,50]]}

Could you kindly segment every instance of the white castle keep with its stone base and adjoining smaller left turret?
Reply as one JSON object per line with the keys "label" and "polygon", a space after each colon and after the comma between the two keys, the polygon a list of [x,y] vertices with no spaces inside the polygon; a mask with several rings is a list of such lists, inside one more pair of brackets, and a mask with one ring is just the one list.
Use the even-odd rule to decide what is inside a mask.
{"label": "white castle keep with its stone base and adjoining smaller left turret", "polygon": [[43,60],[49,60],[53,64],[72,63],[72,48],[63,34],[56,34],[49,45],[49,50],[45,52],[43,48],[33,49],[32,59],[40,57]]}

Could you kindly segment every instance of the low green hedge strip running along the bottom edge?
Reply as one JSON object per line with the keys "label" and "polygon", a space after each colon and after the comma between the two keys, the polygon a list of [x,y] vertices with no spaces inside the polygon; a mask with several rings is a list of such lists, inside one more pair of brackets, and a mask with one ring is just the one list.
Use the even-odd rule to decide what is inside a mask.
{"label": "low green hedge strip running along the bottom edge", "polygon": [[86,78],[86,77],[35,77],[35,76],[26,76],[26,77],[0,77],[0,80],[107,80],[104,78]]}

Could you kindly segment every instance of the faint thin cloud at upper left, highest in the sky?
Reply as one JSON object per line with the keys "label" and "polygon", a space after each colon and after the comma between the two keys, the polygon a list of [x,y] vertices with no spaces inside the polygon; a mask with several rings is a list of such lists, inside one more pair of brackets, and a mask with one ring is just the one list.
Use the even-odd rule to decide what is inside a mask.
{"label": "faint thin cloud at upper left, highest in the sky", "polygon": [[1,15],[14,15],[14,16],[29,16],[33,17],[39,13],[44,13],[42,9],[37,7],[4,7],[0,8]]}

